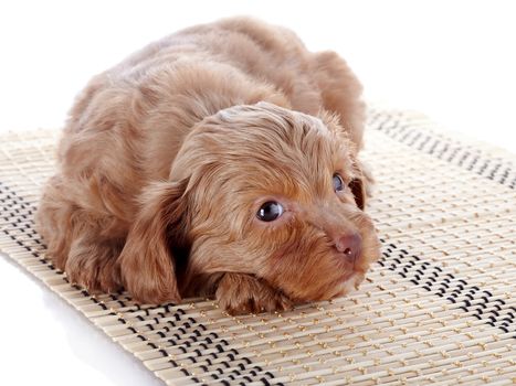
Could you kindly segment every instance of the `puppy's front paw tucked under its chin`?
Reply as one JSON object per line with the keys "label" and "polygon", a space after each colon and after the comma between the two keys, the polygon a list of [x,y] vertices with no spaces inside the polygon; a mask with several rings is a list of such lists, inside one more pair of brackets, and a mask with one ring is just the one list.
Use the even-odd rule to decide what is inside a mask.
{"label": "puppy's front paw tucked under its chin", "polygon": [[245,274],[225,274],[215,292],[221,308],[232,315],[284,311],[293,302],[263,280]]}

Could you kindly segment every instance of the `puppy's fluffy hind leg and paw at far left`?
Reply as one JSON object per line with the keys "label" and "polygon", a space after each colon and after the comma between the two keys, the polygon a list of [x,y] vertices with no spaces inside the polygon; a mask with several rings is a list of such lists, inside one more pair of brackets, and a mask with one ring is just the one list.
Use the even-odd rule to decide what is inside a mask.
{"label": "puppy's fluffy hind leg and paw at far left", "polygon": [[80,206],[65,187],[62,178],[54,176],[40,201],[36,225],[48,256],[72,282],[92,292],[118,290],[115,260],[124,246],[123,223]]}

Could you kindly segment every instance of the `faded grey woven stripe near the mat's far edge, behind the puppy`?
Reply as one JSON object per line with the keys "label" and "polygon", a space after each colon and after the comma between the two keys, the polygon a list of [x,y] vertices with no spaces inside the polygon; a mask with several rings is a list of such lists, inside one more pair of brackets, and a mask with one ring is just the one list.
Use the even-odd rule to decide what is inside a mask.
{"label": "faded grey woven stripe near the mat's far edge, behind the puppy", "polygon": [[371,111],[368,126],[418,151],[433,156],[460,168],[516,189],[516,168],[507,160],[489,158],[481,150],[463,143],[433,136],[424,129],[410,125],[401,112]]}

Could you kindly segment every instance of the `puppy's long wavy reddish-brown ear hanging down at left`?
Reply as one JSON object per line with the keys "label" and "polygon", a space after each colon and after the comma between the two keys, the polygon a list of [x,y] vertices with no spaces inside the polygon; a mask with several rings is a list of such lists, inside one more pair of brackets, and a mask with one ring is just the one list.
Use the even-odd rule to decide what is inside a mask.
{"label": "puppy's long wavy reddish-brown ear hanging down at left", "polygon": [[185,244],[187,183],[160,182],[141,193],[139,213],[117,260],[124,287],[137,301],[181,300],[171,249]]}

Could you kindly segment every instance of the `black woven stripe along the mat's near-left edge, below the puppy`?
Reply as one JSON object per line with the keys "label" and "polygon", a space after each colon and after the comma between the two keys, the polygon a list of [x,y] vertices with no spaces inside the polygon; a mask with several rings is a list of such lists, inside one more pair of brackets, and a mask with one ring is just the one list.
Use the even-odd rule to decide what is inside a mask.
{"label": "black woven stripe along the mat's near-left edge, below the puppy", "polygon": [[[35,207],[21,196],[19,196],[11,189],[0,182],[0,219],[3,219],[10,227],[3,228],[3,233],[14,240],[20,247],[23,247],[30,251],[34,257],[39,258],[42,265],[46,265],[49,269],[62,274],[60,270],[48,262],[45,259],[40,258],[41,249],[44,246],[39,240],[38,234],[33,229],[33,214]],[[20,237],[21,235],[28,236]],[[34,247],[40,250],[35,250]],[[63,280],[69,282],[65,277]],[[74,286],[77,290],[81,290],[78,286]],[[86,290],[82,290],[81,293],[85,298],[102,307],[106,310],[106,305],[95,298],[92,298]],[[112,300],[116,301],[122,308],[130,307],[130,298],[124,298],[122,296],[112,294]],[[157,309],[165,309],[165,312],[155,312]],[[145,309],[138,304],[134,304],[133,309],[125,311],[126,317],[137,319],[143,324],[138,325],[138,330],[145,330],[147,334],[157,334],[160,337],[160,346],[164,349],[159,350],[161,355],[169,356],[167,350],[178,349],[183,354],[189,354],[182,361],[189,361],[188,363],[196,364],[200,361],[204,361],[208,353],[209,366],[201,365],[200,367],[210,374],[212,379],[240,379],[244,378],[248,382],[259,382],[262,384],[275,384],[274,374],[271,372],[256,366],[253,362],[235,349],[232,349],[228,341],[220,337],[215,332],[209,332],[207,326],[196,319],[189,317],[181,308],[170,310],[171,304],[161,304],[159,307],[146,307]],[[112,312],[112,314],[115,314]],[[161,322],[159,318],[171,318],[172,321]],[[126,318],[119,318],[118,321],[123,324],[128,324]],[[127,330],[131,333],[137,333],[137,330],[133,326],[127,325]],[[149,349],[158,350],[158,346],[144,334],[138,334],[138,339],[146,342]],[[189,350],[196,345],[196,349]],[[202,350],[202,351],[201,351]],[[202,356],[202,358],[200,358]],[[212,363],[217,360],[217,363]],[[222,361],[221,361],[222,360]],[[170,360],[169,363],[176,367],[180,367],[178,363]],[[236,367],[232,368],[231,367]],[[190,374],[185,367],[181,367],[181,372],[190,378],[193,383],[201,383],[201,380]]]}

